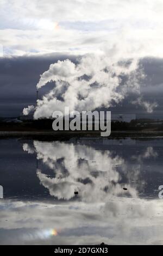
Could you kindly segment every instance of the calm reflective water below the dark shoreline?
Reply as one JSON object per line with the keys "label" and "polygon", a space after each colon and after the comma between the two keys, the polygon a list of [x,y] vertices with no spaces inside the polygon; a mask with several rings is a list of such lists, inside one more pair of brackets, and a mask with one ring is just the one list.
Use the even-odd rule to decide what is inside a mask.
{"label": "calm reflective water below the dark shoreline", "polygon": [[161,138],[0,145],[1,244],[163,244]]}

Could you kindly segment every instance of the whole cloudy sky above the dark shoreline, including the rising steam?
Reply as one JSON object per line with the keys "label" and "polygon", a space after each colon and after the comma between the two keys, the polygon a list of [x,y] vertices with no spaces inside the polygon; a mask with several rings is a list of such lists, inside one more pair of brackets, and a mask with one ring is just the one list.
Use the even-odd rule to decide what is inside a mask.
{"label": "whole cloudy sky above the dark shoreline, including the rising steam", "polygon": [[161,0],[1,0],[0,116],[35,106],[47,71],[35,118],[70,102],[162,118],[162,11]]}

